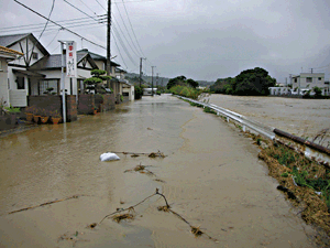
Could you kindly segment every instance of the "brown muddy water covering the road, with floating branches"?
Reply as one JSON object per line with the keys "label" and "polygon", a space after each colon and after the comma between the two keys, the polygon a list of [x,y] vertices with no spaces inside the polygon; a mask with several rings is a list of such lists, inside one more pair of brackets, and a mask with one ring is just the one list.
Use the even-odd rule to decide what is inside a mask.
{"label": "brown muddy water covering the road, with floating branches", "polygon": [[[9,134],[0,148],[0,247],[316,247],[316,233],[276,190],[252,140],[168,95]],[[99,161],[107,151],[157,150],[167,157],[118,153],[119,161]],[[124,173],[140,163],[155,175]],[[158,212],[160,196],[136,206],[133,220],[86,228],[156,187],[173,211],[218,242],[196,238],[177,216]],[[73,195],[80,196],[8,214]]]}

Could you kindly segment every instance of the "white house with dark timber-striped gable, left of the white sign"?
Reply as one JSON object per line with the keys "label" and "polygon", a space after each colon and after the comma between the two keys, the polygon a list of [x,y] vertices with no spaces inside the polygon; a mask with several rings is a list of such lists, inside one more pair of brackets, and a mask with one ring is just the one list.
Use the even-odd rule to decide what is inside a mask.
{"label": "white house with dark timber-striped gable, left of the white sign", "polygon": [[45,77],[29,71],[29,67],[50,53],[32,33],[1,35],[0,45],[23,54],[8,63],[8,104],[25,107],[31,85]]}

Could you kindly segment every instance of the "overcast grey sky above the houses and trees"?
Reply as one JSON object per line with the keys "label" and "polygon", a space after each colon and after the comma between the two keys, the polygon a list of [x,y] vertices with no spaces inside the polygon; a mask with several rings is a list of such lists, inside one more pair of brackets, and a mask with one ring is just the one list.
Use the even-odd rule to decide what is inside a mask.
{"label": "overcast grey sky above the houses and trees", "polygon": [[[46,17],[53,3],[18,1]],[[40,36],[44,19],[13,0],[0,6],[1,35]],[[95,21],[106,9],[107,0],[55,0],[51,20],[106,46],[106,24]],[[166,77],[216,80],[256,66],[279,83],[310,68],[330,77],[329,0],[112,0],[111,12],[111,56],[128,72],[139,73],[140,57],[146,57],[144,73],[151,75],[153,65]],[[40,40],[52,54],[59,53],[58,40],[74,40],[78,48],[106,55],[51,23]]]}

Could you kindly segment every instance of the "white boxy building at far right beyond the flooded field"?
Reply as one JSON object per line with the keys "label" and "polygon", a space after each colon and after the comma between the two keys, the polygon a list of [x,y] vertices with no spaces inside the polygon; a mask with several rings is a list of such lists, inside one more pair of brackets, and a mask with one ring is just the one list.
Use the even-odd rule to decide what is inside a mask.
{"label": "white boxy building at far right beyond the flooded field", "polygon": [[316,86],[322,89],[323,95],[328,90],[328,85],[324,84],[324,73],[300,73],[293,76],[290,83],[295,91],[312,89]]}

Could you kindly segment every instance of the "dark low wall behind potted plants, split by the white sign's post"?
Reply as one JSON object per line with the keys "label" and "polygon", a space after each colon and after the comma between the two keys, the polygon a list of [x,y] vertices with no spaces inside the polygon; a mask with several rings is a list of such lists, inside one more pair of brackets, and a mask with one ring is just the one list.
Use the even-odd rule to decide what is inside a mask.
{"label": "dark low wall behind potted plants, split by the white sign's post", "polygon": [[[28,96],[28,106],[35,106],[48,111],[62,114],[62,96]],[[66,121],[77,120],[76,96],[66,96]]]}

